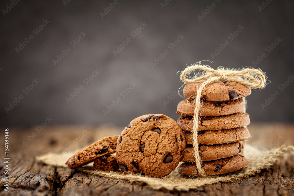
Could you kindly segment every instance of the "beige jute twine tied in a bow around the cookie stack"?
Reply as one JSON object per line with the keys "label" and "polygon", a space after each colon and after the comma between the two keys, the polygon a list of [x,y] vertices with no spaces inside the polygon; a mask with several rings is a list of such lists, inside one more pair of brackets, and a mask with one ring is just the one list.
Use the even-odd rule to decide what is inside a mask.
{"label": "beige jute twine tied in a bow around the cookie stack", "polygon": [[[205,60],[207,61],[207,60]],[[193,65],[189,64],[187,68],[185,68],[180,75],[181,81],[184,84],[193,83],[198,81],[203,81],[201,86],[197,89],[197,95],[194,99],[195,102],[195,110],[194,110],[194,118],[193,118],[193,147],[195,152],[195,164],[197,167],[198,175],[200,177],[207,177],[205,171],[202,167],[202,161],[199,155],[199,145],[197,141],[198,134],[198,122],[200,121],[199,110],[201,108],[201,93],[204,90],[205,86],[209,83],[213,82],[223,82],[223,81],[231,81],[243,84],[249,88],[264,88],[267,82],[267,76],[263,73],[260,68],[237,68],[237,69],[229,69],[218,67],[217,69],[213,69],[208,65],[203,65],[199,61]],[[212,61],[209,61],[212,63]],[[195,73],[195,70],[202,70],[198,73]],[[193,75],[191,75],[193,73]]]}

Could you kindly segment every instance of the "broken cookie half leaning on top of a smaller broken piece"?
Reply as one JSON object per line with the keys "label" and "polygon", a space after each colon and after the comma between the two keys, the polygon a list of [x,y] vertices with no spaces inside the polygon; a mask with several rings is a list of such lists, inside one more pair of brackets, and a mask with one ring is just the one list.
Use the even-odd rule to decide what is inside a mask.
{"label": "broken cookie half leaning on top of a smaller broken piece", "polygon": [[74,154],[65,164],[69,168],[79,167],[103,155],[115,153],[118,135],[106,137]]}

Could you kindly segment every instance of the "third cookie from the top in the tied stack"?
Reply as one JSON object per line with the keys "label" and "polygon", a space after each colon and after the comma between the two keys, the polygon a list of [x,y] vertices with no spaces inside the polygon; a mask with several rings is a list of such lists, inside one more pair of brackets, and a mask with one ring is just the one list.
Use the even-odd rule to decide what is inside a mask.
{"label": "third cookie from the top in the tied stack", "polygon": [[[178,124],[183,131],[193,131],[194,122],[192,116],[180,116]],[[231,129],[249,124],[250,118],[247,113],[240,112],[224,116],[206,116],[200,118],[200,122],[198,122],[198,131]]]}

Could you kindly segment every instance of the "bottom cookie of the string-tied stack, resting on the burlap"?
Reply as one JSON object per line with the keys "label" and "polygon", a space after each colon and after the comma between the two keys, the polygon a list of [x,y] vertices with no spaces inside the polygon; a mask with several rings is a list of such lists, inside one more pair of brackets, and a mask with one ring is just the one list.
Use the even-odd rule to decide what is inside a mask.
{"label": "bottom cookie of the string-tied stack, resting on the burlap", "polygon": [[[234,155],[232,157],[220,160],[203,162],[206,175],[220,175],[229,172],[242,170],[249,166],[248,160],[243,155]],[[197,176],[195,163],[183,163],[178,167],[178,172],[184,176]]]}

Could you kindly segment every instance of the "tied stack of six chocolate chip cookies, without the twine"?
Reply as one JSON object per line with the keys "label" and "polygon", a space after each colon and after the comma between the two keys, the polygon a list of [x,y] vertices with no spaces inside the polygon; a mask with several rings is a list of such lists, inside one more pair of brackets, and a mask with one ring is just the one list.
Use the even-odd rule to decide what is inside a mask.
{"label": "tied stack of six chocolate chip cookies, without the twine", "polygon": [[[187,98],[178,104],[177,113],[181,115],[178,124],[183,129],[186,149],[178,167],[182,175],[196,176],[195,153],[193,148],[194,98],[201,82],[189,83],[183,89]],[[251,89],[234,82],[216,82],[206,85],[201,93],[202,105],[198,123],[199,155],[203,161],[206,175],[219,175],[248,167],[248,160],[240,155],[240,141],[250,138],[245,127],[250,123],[249,115],[243,113],[244,97]]]}

